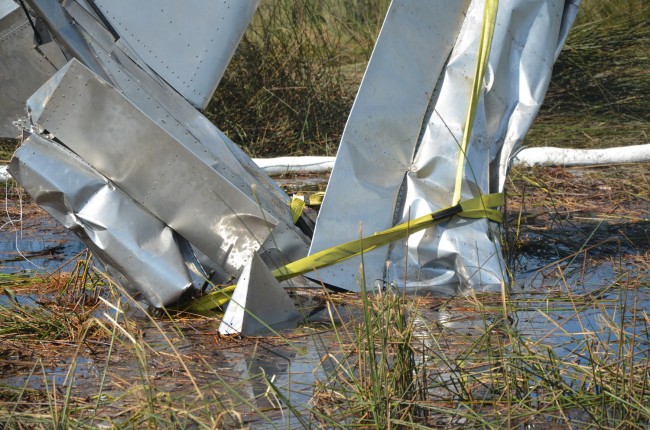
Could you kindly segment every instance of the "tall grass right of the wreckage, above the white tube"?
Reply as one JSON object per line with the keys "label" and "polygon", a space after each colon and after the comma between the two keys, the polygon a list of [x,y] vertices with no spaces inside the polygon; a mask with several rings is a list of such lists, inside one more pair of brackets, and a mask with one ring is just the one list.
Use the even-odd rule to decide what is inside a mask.
{"label": "tall grass right of the wreckage, above the white tube", "polygon": [[526,145],[604,148],[648,142],[649,20],[644,0],[582,2]]}

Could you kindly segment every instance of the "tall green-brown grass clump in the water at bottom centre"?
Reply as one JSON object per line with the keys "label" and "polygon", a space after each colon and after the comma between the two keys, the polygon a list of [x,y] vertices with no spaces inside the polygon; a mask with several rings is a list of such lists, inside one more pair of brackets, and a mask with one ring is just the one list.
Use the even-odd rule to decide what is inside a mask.
{"label": "tall green-brown grass clump in the water at bottom centre", "polygon": [[[349,426],[389,428],[422,415],[423,382],[413,347],[415,302],[396,292],[361,293],[362,318],[314,390],[316,416]],[[341,333],[343,334],[343,333]],[[349,333],[348,333],[349,334]],[[332,351],[333,352],[333,351]]]}

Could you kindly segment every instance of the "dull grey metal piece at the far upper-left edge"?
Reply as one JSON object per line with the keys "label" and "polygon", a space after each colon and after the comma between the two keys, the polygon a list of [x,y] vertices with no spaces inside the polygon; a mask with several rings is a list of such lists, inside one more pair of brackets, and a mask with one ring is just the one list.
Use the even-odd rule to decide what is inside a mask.
{"label": "dull grey metal piece at the far upper-left edge", "polygon": [[25,115],[25,100],[66,61],[51,41],[36,48],[23,10],[0,0],[0,138],[18,135],[13,122]]}

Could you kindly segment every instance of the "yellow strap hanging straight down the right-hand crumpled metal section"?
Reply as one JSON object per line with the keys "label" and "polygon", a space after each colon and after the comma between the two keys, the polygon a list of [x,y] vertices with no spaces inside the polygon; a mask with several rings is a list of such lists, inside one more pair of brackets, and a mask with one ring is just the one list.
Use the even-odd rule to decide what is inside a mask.
{"label": "yellow strap hanging straight down the right-hand crumpled metal section", "polygon": [[474,126],[474,117],[478,100],[481,97],[483,88],[483,78],[487,68],[487,60],[490,56],[490,46],[492,45],[492,35],[494,34],[494,25],[497,18],[498,0],[485,0],[485,9],[483,10],[483,26],[481,28],[481,39],[479,41],[478,58],[476,70],[474,72],[474,83],[472,84],[472,93],[469,99],[469,108],[467,110],[467,119],[465,120],[465,129],[463,130],[463,139],[460,143],[460,152],[458,153],[458,167],[456,168],[456,186],[454,187],[454,197],[452,205],[460,202],[460,192],[463,183],[463,173],[465,172],[465,159],[467,158],[467,145],[472,134]]}

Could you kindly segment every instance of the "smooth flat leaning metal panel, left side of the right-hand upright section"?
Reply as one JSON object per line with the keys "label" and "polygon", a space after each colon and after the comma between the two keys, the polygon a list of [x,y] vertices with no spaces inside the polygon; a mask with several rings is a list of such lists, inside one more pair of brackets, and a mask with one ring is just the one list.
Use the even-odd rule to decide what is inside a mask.
{"label": "smooth flat leaning metal panel, left side of the right-hand upright section", "polygon": [[[468,4],[391,3],[343,132],[310,254],[358,239],[360,228],[370,235],[392,225],[422,122]],[[383,279],[387,252],[364,254],[366,279]],[[313,276],[356,289],[360,264],[361,258],[353,258]]]}

